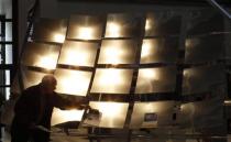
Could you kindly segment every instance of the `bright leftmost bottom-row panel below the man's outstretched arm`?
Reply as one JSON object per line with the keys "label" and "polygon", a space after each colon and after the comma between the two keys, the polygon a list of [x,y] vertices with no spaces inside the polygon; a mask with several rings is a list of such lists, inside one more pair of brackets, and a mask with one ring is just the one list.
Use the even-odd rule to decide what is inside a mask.
{"label": "bright leftmost bottom-row panel below the man's outstretched arm", "polygon": [[52,114],[52,125],[64,123],[68,121],[81,121],[81,117],[84,114],[84,110],[61,110],[54,108]]}

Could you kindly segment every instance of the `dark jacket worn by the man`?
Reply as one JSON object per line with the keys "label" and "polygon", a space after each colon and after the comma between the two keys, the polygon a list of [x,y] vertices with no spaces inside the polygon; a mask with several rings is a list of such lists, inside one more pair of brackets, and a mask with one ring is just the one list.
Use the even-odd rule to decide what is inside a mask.
{"label": "dark jacket worn by the man", "polygon": [[64,109],[69,105],[67,99],[56,92],[42,94],[40,87],[41,85],[32,86],[22,92],[15,103],[13,124],[29,128],[31,123],[35,123],[50,129],[53,108]]}

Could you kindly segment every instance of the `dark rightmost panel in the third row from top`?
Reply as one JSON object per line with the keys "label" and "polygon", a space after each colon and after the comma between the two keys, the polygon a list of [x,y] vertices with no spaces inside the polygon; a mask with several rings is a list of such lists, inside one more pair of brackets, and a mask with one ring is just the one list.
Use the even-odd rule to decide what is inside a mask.
{"label": "dark rightmost panel in the third row from top", "polygon": [[210,91],[215,85],[224,83],[221,66],[202,66],[184,70],[183,95]]}

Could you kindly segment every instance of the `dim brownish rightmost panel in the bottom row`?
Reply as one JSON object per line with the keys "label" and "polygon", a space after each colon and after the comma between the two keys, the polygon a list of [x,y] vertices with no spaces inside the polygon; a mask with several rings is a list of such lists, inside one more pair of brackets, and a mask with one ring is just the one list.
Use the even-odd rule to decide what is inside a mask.
{"label": "dim brownish rightmost panel in the bottom row", "polygon": [[[220,96],[219,96],[220,95]],[[183,103],[177,122],[182,127],[211,128],[223,124],[223,99],[218,94],[205,101]]]}

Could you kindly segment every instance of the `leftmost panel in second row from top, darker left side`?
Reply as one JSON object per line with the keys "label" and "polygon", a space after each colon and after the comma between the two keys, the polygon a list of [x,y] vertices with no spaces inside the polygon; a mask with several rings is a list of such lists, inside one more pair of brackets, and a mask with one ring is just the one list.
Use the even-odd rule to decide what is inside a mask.
{"label": "leftmost panel in second row from top, darker left side", "polygon": [[59,50],[58,45],[28,43],[22,56],[22,63],[26,66],[55,69]]}

